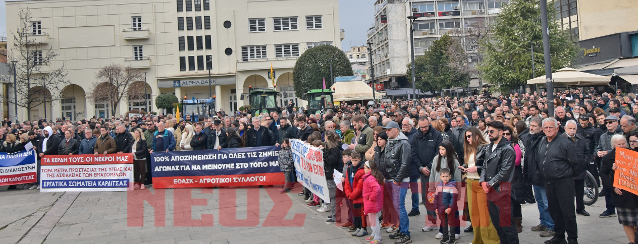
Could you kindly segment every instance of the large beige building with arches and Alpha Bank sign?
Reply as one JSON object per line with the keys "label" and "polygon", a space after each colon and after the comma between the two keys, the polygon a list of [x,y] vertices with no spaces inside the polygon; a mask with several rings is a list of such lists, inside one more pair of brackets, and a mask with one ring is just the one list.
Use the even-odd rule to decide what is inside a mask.
{"label": "large beige building with arches and Alpha Bank sign", "polygon": [[[241,94],[249,87],[276,87],[287,93],[278,104],[305,105],[292,89],[295,61],[317,45],[341,48],[345,34],[339,30],[338,0],[7,1],[9,47],[19,12],[27,9],[41,49],[59,54],[50,69],[64,64],[71,82],[61,101],[34,108],[31,120],[43,117],[45,109],[48,120],[110,117],[112,110],[119,115],[135,108],[158,111],[154,99],[164,93],[180,99],[216,96],[216,108],[228,113],[248,103]],[[146,73],[149,104],[124,99],[108,108],[88,101],[96,72],[112,63]],[[26,114],[19,108],[19,120]]]}

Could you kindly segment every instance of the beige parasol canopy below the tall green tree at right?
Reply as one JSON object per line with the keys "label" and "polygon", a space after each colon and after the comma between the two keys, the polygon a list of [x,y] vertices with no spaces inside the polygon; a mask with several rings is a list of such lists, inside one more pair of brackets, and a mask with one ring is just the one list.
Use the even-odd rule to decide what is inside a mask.
{"label": "beige parasol canopy below the tall green tree at right", "polygon": [[[611,78],[602,75],[584,73],[576,71],[576,69],[566,67],[558,69],[556,72],[552,73],[552,80],[556,84],[589,86],[608,85]],[[530,85],[541,83],[544,84],[545,82],[545,76],[540,76],[527,81],[527,83]]]}

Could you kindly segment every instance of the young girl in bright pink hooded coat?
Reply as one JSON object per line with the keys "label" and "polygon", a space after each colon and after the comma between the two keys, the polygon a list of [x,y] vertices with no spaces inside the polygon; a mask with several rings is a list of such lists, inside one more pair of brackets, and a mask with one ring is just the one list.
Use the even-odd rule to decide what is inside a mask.
{"label": "young girl in bright pink hooded coat", "polygon": [[363,178],[363,205],[364,214],[367,214],[372,235],[366,238],[370,244],[381,243],[381,229],[378,215],[383,207],[383,175],[376,167],[375,162],[366,161],[364,164]]}

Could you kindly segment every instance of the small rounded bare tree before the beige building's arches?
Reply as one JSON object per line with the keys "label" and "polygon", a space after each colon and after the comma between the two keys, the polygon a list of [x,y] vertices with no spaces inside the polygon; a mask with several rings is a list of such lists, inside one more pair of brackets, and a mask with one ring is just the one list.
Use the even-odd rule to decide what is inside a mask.
{"label": "small rounded bare tree before the beige building's arches", "polygon": [[95,89],[87,94],[89,101],[95,103],[108,102],[111,106],[111,115],[115,116],[115,108],[121,103],[122,98],[139,99],[144,93],[140,90],[146,85],[144,73],[140,69],[121,64],[109,64],[96,73],[98,80],[93,83]]}

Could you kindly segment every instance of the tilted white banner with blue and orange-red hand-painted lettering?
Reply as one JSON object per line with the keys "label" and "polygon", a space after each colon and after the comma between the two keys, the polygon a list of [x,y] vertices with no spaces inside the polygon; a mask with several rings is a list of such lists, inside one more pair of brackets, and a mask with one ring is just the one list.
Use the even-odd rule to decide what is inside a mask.
{"label": "tilted white banner with blue and orange-red hand-painted lettering", "polygon": [[326,203],[330,203],[328,183],[323,171],[323,151],[297,139],[290,140],[297,180]]}

